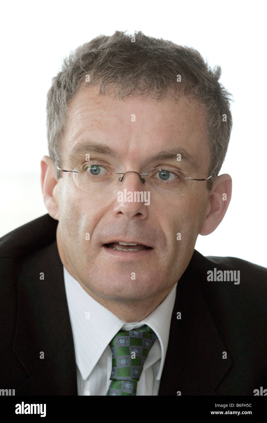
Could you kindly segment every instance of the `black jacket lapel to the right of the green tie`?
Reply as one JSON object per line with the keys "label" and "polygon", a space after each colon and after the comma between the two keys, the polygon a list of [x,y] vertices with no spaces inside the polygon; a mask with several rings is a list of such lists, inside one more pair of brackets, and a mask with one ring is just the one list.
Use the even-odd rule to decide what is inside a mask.
{"label": "black jacket lapel to the right of the green tie", "polygon": [[177,284],[159,395],[219,395],[216,389],[234,363],[206,302],[209,268],[209,261],[195,250]]}

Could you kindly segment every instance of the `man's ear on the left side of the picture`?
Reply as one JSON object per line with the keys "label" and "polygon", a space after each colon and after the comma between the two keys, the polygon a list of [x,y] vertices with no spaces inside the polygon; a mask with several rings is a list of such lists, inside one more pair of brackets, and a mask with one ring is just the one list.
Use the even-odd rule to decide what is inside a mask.
{"label": "man's ear on the left side of the picture", "polygon": [[54,163],[49,156],[41,159],[41,186],[48,213],[53,219],[59,220],[58,180]]}

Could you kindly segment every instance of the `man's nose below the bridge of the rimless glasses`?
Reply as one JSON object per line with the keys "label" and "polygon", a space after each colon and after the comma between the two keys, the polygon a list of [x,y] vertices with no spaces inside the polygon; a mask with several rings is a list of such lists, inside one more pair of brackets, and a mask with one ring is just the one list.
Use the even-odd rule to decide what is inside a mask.
{"label": "man's nose below the bridge of the rimless glasses", "polygon": [[126,172],[121,176],[122,182],[118,184],[117,201],[113,208],[114,215],[116,217],[124,215],[128,219],[133,217],[140,220],[146,219],[149,206],[145,204],[148,204],[148,195],[144,192],[145,187],[141,183],[141,178],[145,176],[140,176],[134,171]]}

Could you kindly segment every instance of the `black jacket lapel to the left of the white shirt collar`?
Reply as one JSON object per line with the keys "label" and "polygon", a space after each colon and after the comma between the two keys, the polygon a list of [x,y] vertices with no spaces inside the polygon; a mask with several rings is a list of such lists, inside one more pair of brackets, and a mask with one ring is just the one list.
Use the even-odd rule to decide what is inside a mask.
{"label": "black jacket lapel to the left of the white shirt collar", "polygon": [[77,395],[72,328],[56,241],[22,265],[13,349],[29,376],[16,395]]}

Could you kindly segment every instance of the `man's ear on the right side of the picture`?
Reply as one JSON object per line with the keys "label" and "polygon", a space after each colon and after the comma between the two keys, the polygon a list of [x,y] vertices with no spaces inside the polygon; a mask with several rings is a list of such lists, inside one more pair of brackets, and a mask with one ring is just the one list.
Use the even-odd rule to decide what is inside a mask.
{"label": "man's ear on the right side of the picture", "polygon": [[215,231],[223,220],[228,209],[232,194],[232,179],[227,173],[220,175],[213,183],[209,193],[205,219],[200,231],[200,235],[209,235]]}

